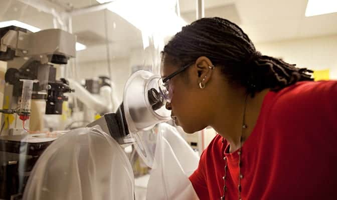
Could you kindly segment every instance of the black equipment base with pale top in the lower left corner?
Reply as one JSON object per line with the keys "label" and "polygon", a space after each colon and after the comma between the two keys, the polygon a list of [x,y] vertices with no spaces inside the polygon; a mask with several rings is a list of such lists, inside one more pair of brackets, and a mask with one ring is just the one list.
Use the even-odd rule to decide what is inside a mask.
{"label": "black equipment base with pale top in the lower left corner", "polygon": [[56,138],[46,134],[0,136],[1,199],[21,199],[34,164]]}

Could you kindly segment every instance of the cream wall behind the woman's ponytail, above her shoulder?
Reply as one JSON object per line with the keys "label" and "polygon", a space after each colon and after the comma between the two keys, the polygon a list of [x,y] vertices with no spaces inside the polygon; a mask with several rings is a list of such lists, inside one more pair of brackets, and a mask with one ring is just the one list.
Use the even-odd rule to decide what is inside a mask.
{"label": "cream wall behind the woman's ponytail, above her shoulder", "polygon": [[337,34],[256,43],[255,46],[262,54],[282,57],[298,67],[330,69],[330,79],[337,79]]}

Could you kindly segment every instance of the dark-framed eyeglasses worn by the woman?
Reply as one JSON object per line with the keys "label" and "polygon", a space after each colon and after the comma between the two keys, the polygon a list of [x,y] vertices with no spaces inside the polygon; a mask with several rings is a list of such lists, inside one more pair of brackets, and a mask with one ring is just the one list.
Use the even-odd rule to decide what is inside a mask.
{"label": "dark-framed eyeglasses worn by the woman", "polygon": [[159,91],[167,102],[171,102],[172,94],[173,94],[173,90],[170,87],[170,79],[176,76],[177,74],[179,74],[180,72],[184,71],[185,69],[187,69],[187,67],[191,66],[192,64],[193,63],[186,64],[185,66],[171,73],[165,78],[162,78],[162,77],[159,78],[158,80]]}

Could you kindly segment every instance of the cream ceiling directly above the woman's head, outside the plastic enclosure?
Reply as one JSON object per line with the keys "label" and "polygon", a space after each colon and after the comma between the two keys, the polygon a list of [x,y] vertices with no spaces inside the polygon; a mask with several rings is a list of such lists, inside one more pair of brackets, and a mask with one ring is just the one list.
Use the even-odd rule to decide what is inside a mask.
{"label": "cream ceiling directly above the woman's head, outside the plastic enclosure", "polygon": [[[196,0],[181,0],[182,16],[195,18]],[[205,0],[205,16],[239,24],[253,42],[337,34],[337,13],[305,17],[307,0]]]}

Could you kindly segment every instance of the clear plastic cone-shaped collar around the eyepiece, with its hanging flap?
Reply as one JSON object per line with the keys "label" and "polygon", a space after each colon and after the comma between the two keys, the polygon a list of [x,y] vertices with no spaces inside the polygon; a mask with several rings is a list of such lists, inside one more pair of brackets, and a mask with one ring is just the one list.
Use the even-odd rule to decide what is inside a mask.
{"label": "clear plastic cone-shaped collar around the eyepiece, with its hanging flap", "polygon": [[[155,124],[170,119],[171,111],[165,108],[164,101],[153,104],[149,92],[158,91],[158,79],[149,71],[139,70],[133,73],[125,84],[124,112],[129,132],[136,140],[134,147],[145,164],[152,167],[156,132]],[[158,93],[159,95],[159,93]],[[157,96],[160,98],[160,96]],[[153,100],[153,99],[152,99]]]}

